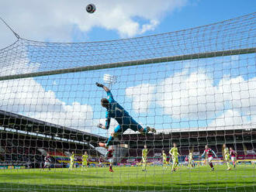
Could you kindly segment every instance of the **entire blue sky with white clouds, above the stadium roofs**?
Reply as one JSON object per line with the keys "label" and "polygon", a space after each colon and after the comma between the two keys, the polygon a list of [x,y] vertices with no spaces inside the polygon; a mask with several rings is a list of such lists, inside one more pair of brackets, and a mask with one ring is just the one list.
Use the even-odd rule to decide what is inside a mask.
{"label": "entire blue sky with white clouds, above the stadium roofs", "polygon": [[[11,14],[17,10],[11,5],[8,7],[7,3],[5,10],[9,11],[5,12],[4,18],[10,22],[11,26],[14,26],[20,36],[26,39],[42,42],[93,42],[148,36],[203,26],[247,15],[254,12],[256,7],[255,1],[161,0],[162,3],[157,6],[162,5],[162,7],[157,7],[156,10],[154,1],[148,1],[147,5],[139,3],[141,5],[133,10],[133,1],[112,0],[111,2],[116,2],[113,8],[115,13],[109,12],[106,2],[95,0],[97,11],[92,15],[81,10],[79,15],[68,9],[69,7],[72,10],[80,9],[81,5],[85,5],[87,2],[78,1],[74,5],[71,2],[64,2],[60,4],[60,7],[55,5],[55,2],[49,2],[49,7],[46,6],[47,4],[42,5],[42,15],[33,12],[33,6],[38,6],[36,3],[20,5],[20,9],[26,11],[27,15],[30,14],[30,17],[27,17],[26,14]],[[51,3],[55,7],[50,6]],[[106,15],[108,12],[109,15]],[[20,16],[22,24],[16,19],[16,16]],[[0,39],[4,38],[2,42],[11,43],[15,40],[13,36],[9,36],[9,31],[3,30],[3,32],[3,37],[0,37]],[[207,32],[210,32],[209,28]],[[239,33],[237,32],[237,34]],[[185,37],[188,35],[189,33],[186,33]],[[214,39],[216,35],[220,34],[213,33],[209,37]],[[172,37],[170,36],[170,38]],[[182,38],[182,36],[178,37]],[[227,37],[227,39],[229,38],[234,40],[235,36]],[[150,39],[145,42],[148,41]],[[151,41],[157,47],[157,39]],[[139,41],[134,40],[133,43],[137,42]],[[211,41],[209,40],[209,42]],[[252,39],[248,44],[250,46],[253,43]],[[188,43],[180,46],[182,49],[180,51],[178,48],[171,48],[175,50],[173,53],[165,53],[164,51],[167,49],[163,48],[163,54],[161,54],[161,49],[155,48],[154,50],[152,46],[147,47],[147,44],[141,44],[137,48],[143,47],[144,52],[140,53],[136,50],[136,54],[133,53],[133,48],[122,50],[122,45],[126,46],[125,43],[120,43],[117,50],[114,50],[115,43],[111,46],[100,46],[99,44],[95,46],[95,49],[97,47],[112,47],[113,51],[116,51],[113,52],[115,53],[113,58],[109,56],[85,57],[85,53],[92,51],[94,43],[58,44],[57,46],[51,43],[40,43],[35,46],[31,43],[30,46],[26,46],[29,47],[29,50],[23,60],[20,60],[19,54],[17,54],[17,58],[9,56],[13,66],[7,67],[7,70],[17,68],[14,73],[20,73],[27,69],[27,63],[32,63],[35,66],[32,69],[34,71],[144,59],[147,58],[147,48],[149,53],[158,50],[159,53],[157,52],[156,57],[182,54],[186,51],[192,53],[193,50],[197,53],[196,50],[199,48],[206,50],[208,48],[215,50],[216,48],[214,44],[208,48],[205,48],[204,44],[199,44],[199,47],[194,46],[194,49],[185,50],[185,46],[193,45]],[[230,45],[232,43],[227,43],[227,46]],[[77,51],[79,49],[81,52]],[[101,51],[105,53],[104,50],[98,50],[95,53]],[[19,52],[19,47],[17,52]],[[93,54],[94,51],[92,51]],[[111,55],[111,53],[109,54]],[[130,56],[134,57],[130,58]],[[1,62],[3,66],[6,65],[3,60]],[[112,87],[114,98],[143,125],[155,126],[157,129],[180,129],[256,122],[256,98],[253,96],[256,91],[254,88],[254,84],[256,84],[254,54],[157,63],[5,82],[0,87],[2,91],[0,97],[3,98],[2,108],[48,122],[67,125],[74,129],[104,135],[104,131],[95,128],[97,123],[104,122],[105,117],[106,110],[99,105],[99,101],[106,94],[95,87],[96,81],[103,82],[104,74],[118,77],[117,84]],[[177,83],[170,83],[177,81],[180,87],[176,86]],[[20,92],[15,89],[6,91],[5,85],[8,87],[10,86],[8,84],[19,87]],[[12,94],[5,94],[9,91]],[[9,98],[6,98],[6,95],[9,95]],[[15,96],[12,97],[12,95]],[[250,95],[251,99],[247,98],[247,95]]]}

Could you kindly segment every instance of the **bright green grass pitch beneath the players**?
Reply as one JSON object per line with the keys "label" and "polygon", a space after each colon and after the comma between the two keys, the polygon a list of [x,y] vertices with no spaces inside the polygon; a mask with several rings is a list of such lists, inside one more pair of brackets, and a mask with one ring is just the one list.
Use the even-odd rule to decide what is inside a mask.
{"label": "bright green grass pitch beneath the players", "polygon": [[254,166],[237,166],[226,170],[216,166],[189,170],[185,167],[171,173],[161,166],[149,166],[147,172],[141,167],[80,168],[52,170],[0,170],[0,191],[256,191]]}

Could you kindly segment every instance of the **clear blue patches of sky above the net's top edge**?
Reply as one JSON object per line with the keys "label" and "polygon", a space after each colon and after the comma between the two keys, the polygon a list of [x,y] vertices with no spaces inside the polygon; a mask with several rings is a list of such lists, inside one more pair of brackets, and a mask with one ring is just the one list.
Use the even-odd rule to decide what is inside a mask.
{"label": "clear blue patches of sky above the net's top edge", "polygon": [[[188,1],[182,9],[175,12],[164,14],[161,23],[153,31],[144,33],[143,36],[156,33],[168,33],[182,29],[193,28],[197,26],[208,25],[213,22],[221,22],[226,19],[232,19],[240,15],[247,15],[255,12],[256,2],[253,0],[216,0],[216,1]],[[144,19],[138,19],[144,22]],[[74,29],[74,42],[81,42],[84,39],[89,41],[119,39],[116,31],[109,31],[100,27],[95,27],[84,38],[81,33]]]}

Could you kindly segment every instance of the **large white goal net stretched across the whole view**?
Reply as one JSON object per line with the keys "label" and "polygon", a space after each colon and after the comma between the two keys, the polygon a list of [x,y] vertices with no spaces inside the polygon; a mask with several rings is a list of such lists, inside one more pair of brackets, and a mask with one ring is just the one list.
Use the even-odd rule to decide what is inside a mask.
{"label": "large white goal net stretched across the whole view", "polygon": [[0,190],[255,191],[255,21],[0,50]]}

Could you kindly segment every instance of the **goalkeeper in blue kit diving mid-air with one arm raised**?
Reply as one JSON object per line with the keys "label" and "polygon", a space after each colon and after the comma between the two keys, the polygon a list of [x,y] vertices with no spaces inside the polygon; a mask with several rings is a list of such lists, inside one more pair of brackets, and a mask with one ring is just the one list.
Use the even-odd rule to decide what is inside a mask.
{"label": "goalkeeper in blue kit diving mid-air with one arm raised", "polygon": [[106,124],[102,125],[99,124],[98,127],[101,129],[109,129],[110,125],[110,119],[115,118],[116,122],[118,122],[119,125],[117,125],[114,132],[111,133],[109,136],[109,139],[106,143],[99,142],[99,146],[108,148],[112,145],[112,140],[114,137],[116,137],[118,134],[122,134],[127,129],[132,129],[134,132],[139,131],[140,133],[147,133],[147,132],[156,132],[156,129],[150,128],[147,126],[147,128],[143,128],[139,123],[137,123],[130,115],[129,113],[121,106],[119,103],[117,103],[112,96],[112,93],[110,92],[109,88],[104,86],[103,84],[96,83],[98,87],[102,87],[106,93],[108,98],[102,98],[101,104],[103,108],[106,108]]}

